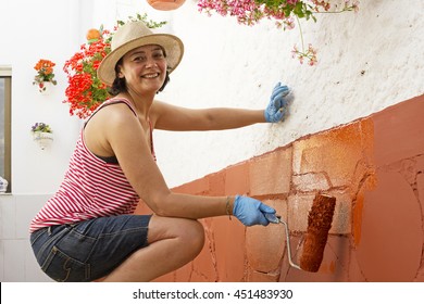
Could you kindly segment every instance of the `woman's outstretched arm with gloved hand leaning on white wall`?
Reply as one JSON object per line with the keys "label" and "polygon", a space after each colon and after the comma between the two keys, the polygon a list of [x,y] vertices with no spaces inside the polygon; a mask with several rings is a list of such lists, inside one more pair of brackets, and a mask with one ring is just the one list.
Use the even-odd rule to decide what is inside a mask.
{"label": "woman's outstretched arm with gloved hand leaning on white wall", "polygon": [[265,110],[246,110],[229,107],[186,109],[155,101],[152,107],[155,128],[163,130],[224,130],[241,128],[258,123],[277,123],[283,121],[288,106],[285,97],[287,86],[275,86]]}

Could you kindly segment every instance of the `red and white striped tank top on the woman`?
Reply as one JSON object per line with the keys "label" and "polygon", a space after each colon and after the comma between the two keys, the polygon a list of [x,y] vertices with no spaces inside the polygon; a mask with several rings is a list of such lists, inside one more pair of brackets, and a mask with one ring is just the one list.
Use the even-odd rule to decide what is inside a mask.
{"label": "red and white striped tank top on the woman", "polygon": [[[124,99],[105,101],[92,115],[103,106],[116,102],[126,103],[137,115],[129,101]],[[84,142],[83,134],[84,127],[62,185],[32,220],[29,232],[53,225],[134,213],[139,197],[124,172],[119,164],[107,163],[90,152]],[[151,136],[150,140],[154,157]]]}

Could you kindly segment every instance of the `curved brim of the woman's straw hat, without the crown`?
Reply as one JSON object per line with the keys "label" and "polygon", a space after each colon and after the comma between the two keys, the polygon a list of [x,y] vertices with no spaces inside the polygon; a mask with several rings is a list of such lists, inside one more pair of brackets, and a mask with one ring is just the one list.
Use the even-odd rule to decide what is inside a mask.
{"label": "curved brim of the woman's straw hat, without the crown", "polygon": [[184,45],[178,37],[170,34],[147,35],[141,38],[129,40],[110,52],[100,63],[100,66],[97,69],[97,77],[103,84],[112,86],[116,77],[115,66],[120,59],[127,52],[148,45],[158,45],[165,50],[169,73],[173,72],[183,59]]}

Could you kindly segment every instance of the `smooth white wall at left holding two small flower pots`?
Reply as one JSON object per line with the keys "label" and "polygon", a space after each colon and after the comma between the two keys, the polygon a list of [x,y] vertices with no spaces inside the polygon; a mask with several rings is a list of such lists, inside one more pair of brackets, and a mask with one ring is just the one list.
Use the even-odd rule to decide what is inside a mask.
{"label": "smooth white wall at left holding two small flower pots", "polygon": [[[79,122],[67,114],[64,61],[78,46],[78,1],[0,1],[0,64],[12,66],[12,187],[18,193],[53,192],[63,176]],[[39,59],[57,63],[58,86],[40,96],[33,79]],[[51,149],[41,151],[29,132],[36,122],[49,124]]]}

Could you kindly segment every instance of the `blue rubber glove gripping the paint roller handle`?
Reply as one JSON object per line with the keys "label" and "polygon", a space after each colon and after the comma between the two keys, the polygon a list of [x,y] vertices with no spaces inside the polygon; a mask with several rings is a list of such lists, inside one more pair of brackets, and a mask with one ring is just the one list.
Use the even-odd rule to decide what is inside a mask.
{"label": "blue rubber glove gripping the paint roller handle", "polygon": [[264,216],[265,213],[275,214],[275,210],[255,199],[236,195],[233,215],[245,226],[267,226],[270,220]]}

